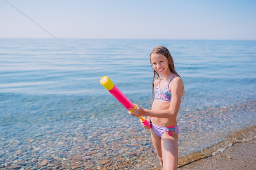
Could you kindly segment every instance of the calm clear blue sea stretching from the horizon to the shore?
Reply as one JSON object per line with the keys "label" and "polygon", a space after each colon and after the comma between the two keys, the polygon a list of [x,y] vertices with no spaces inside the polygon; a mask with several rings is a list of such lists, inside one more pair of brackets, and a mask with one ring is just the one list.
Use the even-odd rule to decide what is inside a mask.
{"label": "calm clear blue sea stretching from the horizon to the shore", "polygon": [[256,41],[0,39],[0,165],[20,150],[28,160],[48,147],[33,152],[40,159],[46,152],[76,152],[81,143],[85,152],[97,145],[94,151],[105,155],[115,150],[107,141],[119,150],[152,148],[150,132],[100,78],[108,76],[131,102],[150,109],[155,46],[169,49],[184,82],[177,115],[181,159],[256,138]]}

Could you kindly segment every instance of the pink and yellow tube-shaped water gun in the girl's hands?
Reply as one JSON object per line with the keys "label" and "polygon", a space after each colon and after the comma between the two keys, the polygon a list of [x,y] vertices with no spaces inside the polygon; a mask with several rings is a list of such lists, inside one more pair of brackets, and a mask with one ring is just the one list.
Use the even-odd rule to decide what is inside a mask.
{"label": "pink and yellow tube-shaped water gun in the girl's hands", "polygon": [[[134,104],[126,97],[126,95],[124,95],[124,93],[122,93],[107,76],[101,77],[100,82],[101,85],[105,87],[109,93],[111,93],[127,110],[129,110],[129,108],[136,108],[136,106],[134,106]],[[132,110],[129,111],[132,112]],[[139,116],[139,118],[145,126],[151,126],[145,117]]]}

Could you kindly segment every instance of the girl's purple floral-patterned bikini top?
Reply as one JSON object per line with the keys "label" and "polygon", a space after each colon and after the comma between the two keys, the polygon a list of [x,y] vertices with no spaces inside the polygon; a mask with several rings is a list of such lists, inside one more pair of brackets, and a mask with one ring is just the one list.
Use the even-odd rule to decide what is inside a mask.
{"label": "girl's purple floral-patterned bikini top", "polygon": [[[175,75],[176,74],[173,75],[173,77],[171,78],[170,82],[173,80]],[[164,86],[164,88],[162,88],[162,90],[161,90],[160,87],[159,87],[160,81],[159,81],[157,87],[155,88],[155,99],[157,99],[157,100],[164,100],[164,101],[170,102],[171,101],[171,97],[172,97],[171,91],[169,89],[170,82],[168,84],[166,84],[166,86]]]}

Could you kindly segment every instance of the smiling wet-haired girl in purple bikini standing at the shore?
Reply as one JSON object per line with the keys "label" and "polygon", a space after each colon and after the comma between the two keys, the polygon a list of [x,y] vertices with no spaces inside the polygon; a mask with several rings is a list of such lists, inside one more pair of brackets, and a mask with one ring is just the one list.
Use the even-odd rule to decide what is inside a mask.
{"label": "smiling wet-haired girl in purple bikini standing at the shore", "polygon": [[[176,73],[171,53],[164,46],[153,49],[150,63],[154,71],[151,110],[135,104],[137,108],[129,108],[133,110],[129,114],[135,117],[148,116],[147,120],[152,126],[151,138],[162,170],[176,170],[179,135],[176,117],[184,93],[183,82]],[[144,128],[149,129],[150,126]]]}

